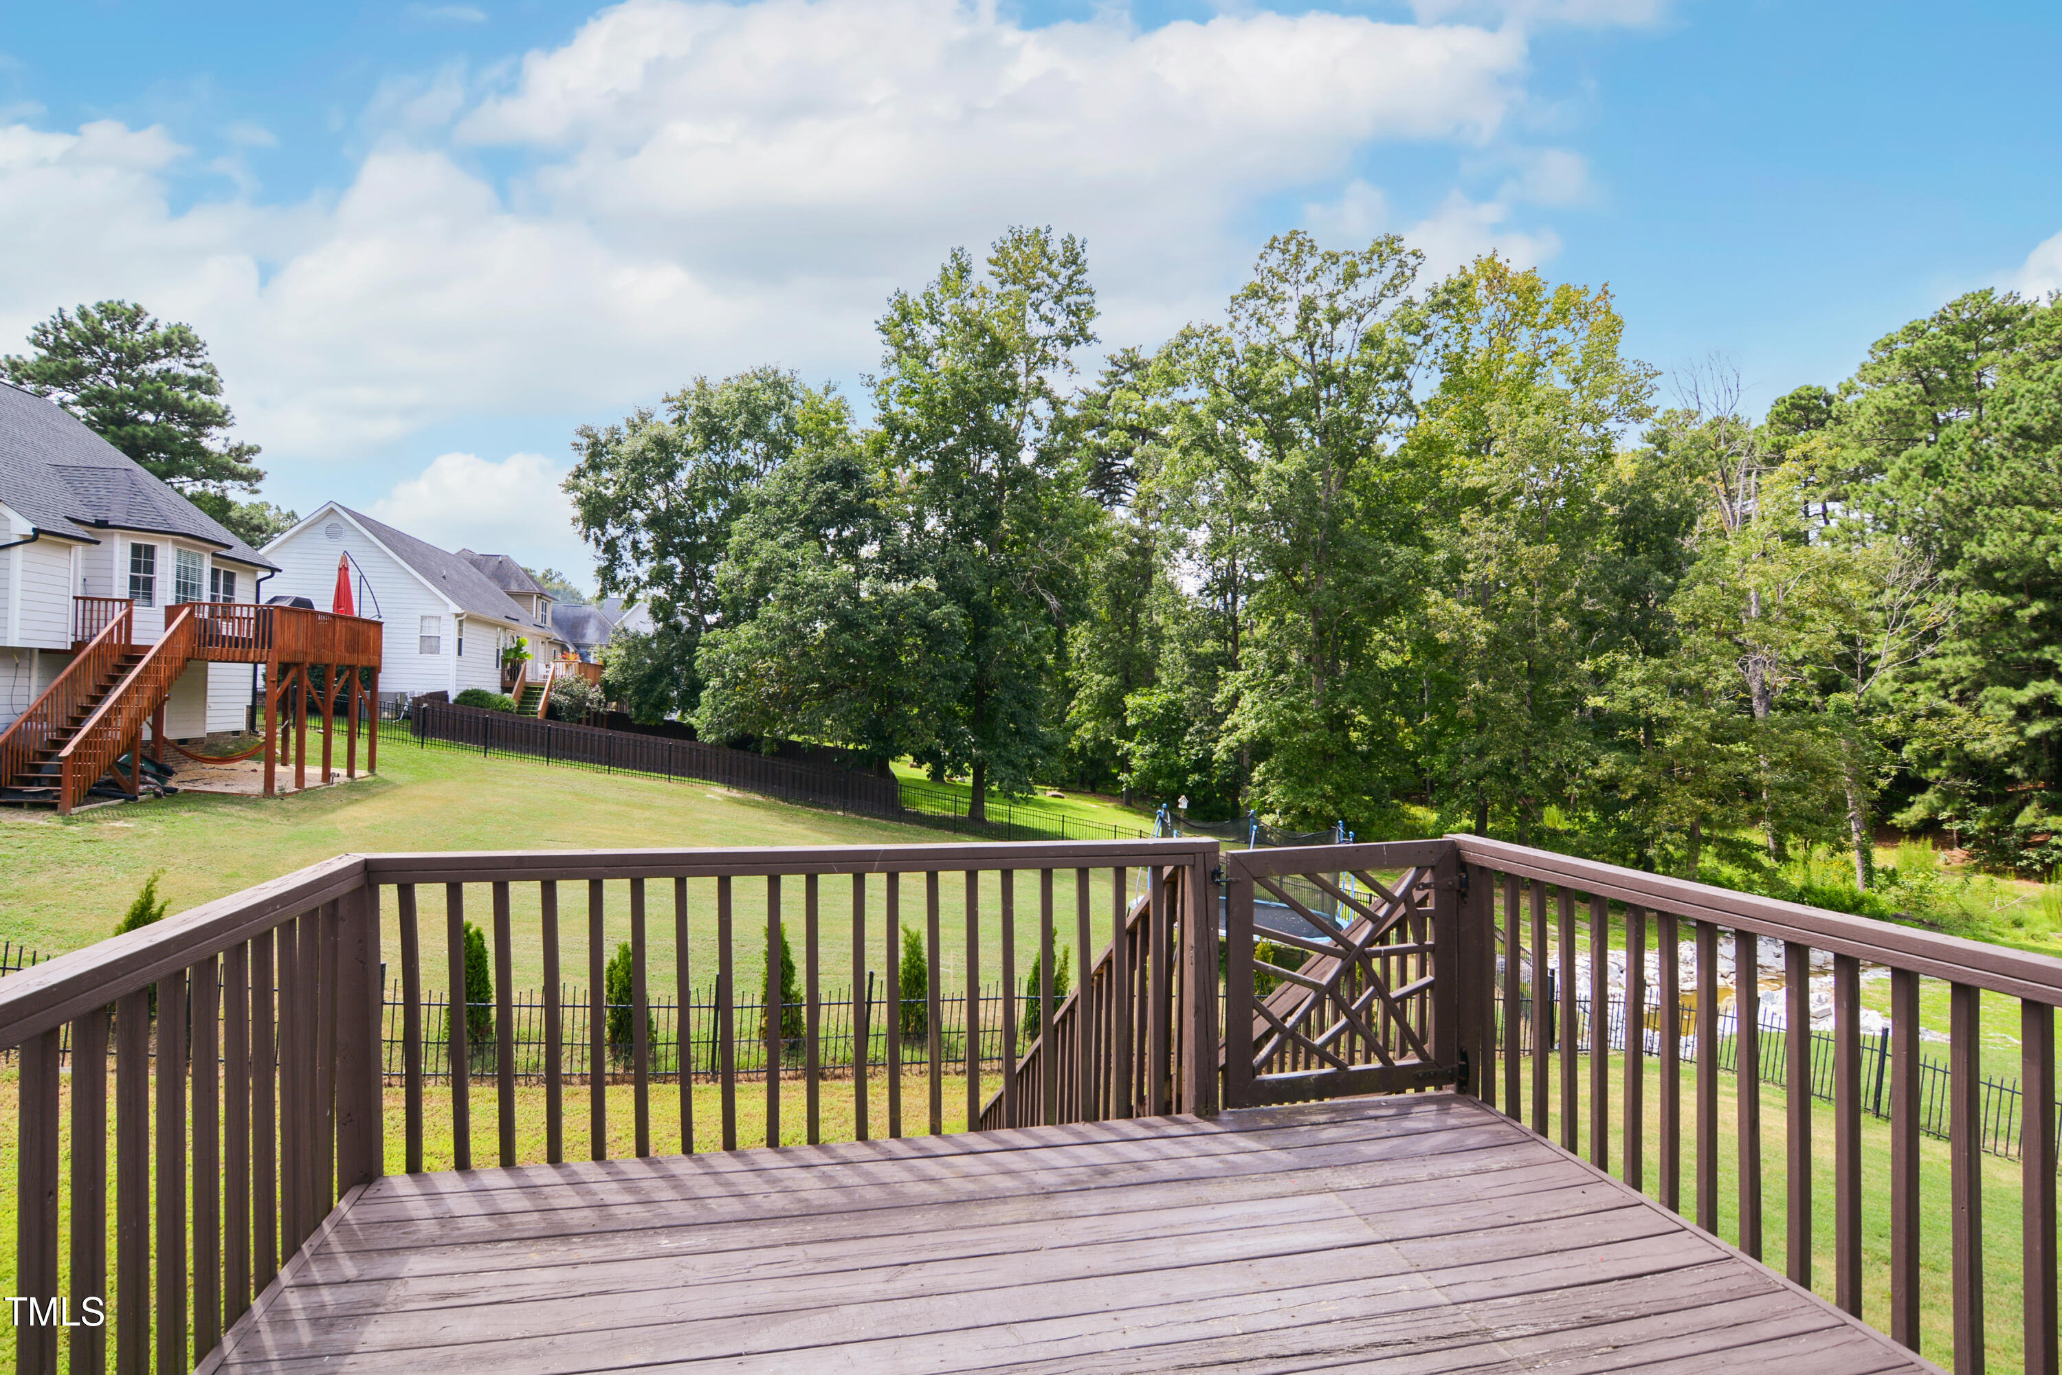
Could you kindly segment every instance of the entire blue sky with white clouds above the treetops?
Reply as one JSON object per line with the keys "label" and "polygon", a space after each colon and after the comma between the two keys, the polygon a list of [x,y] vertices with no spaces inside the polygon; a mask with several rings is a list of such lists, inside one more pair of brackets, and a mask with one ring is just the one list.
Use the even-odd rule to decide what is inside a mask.
{"label": "entire blue sky with white clouds above the treetops", "polygon": [[2062,287],[2054,4],[639,0],[19,6],[0,348],[122,295],[214,344],[268,497],[579,563],[571,429],[761,361],[856,385],[885,293],[1087,235],[1109,344],[1260,241],[1610,282],[1749,400],[1959,291]]}

